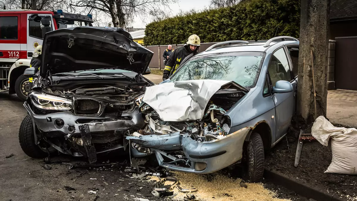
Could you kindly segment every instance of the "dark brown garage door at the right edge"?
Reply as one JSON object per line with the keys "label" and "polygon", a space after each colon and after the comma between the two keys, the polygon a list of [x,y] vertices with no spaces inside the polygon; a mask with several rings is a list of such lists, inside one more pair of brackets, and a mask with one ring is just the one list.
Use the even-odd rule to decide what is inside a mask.
{"label": "dark brown garage door at the right edge", "polygon": [[357,90],[357,36],[336,37],[335,40],[336,89]]}

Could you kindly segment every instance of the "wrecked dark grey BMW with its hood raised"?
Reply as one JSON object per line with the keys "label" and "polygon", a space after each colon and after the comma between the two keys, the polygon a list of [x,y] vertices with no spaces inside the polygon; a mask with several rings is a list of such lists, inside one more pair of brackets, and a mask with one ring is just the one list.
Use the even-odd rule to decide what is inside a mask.
{"label": "wrecked dark grey BMW with its hood raised", "polygon": [[153,52],[121,28],[72,27],[44,37],[39,73],[24,103],[28,115],[19,141],[30,157],[51,152],[86,156],[123,147],[129,129],[143,129],[139,111],[145,88],[142,74]]}

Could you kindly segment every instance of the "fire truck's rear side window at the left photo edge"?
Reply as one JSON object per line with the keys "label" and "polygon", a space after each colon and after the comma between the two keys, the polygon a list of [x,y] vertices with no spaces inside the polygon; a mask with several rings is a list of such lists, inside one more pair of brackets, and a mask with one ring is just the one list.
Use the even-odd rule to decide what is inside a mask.
{"label": "fire truck's rear side window at the left photo edge", "polygon": [[17,39],[17,17],[0,17],[0,39]]}

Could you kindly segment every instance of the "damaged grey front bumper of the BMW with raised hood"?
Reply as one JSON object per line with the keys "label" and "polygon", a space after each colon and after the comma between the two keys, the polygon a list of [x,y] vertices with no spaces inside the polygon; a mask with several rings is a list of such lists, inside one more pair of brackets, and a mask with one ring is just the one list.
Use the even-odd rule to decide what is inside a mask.
{"label": "damaged grey front bumper of the BMW with raised hood", "polygon": [[[145,126],[139,109],[122,114],[120,117],[94,117],[74,115],[70,111],[46,115],[35,114],[29,104],[24,104],[32,118],[35,143],[45,139],[56,150],[72,156],[91,155],[123,147],[124,133],[130,129]],[[96,146],[96,151],[90,150]],[[69,148],[66,145],[71,145]]]}

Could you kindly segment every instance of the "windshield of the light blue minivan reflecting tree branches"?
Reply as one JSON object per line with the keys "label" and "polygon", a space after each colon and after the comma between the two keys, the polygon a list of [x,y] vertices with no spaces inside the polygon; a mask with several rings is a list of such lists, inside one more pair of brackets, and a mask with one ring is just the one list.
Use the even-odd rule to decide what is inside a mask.
{"label": "windshield of the light blue minivan reflecting tree branches", "polygon": [[250,89],[255,86],[265,52],[228,52],[195,56],[170,77],[184,80],[228,80]]}

